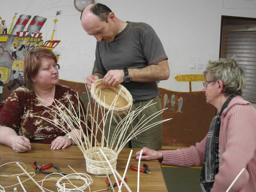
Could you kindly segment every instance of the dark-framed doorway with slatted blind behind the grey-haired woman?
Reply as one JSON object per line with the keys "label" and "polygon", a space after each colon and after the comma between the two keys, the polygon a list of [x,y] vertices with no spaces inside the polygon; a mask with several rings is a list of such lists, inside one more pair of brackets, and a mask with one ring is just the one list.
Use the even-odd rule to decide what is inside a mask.
{"label": "dark-framed doorway with slatted blind behind the grey-haired woman", "polygon": [[242,96],[256,103],[256,18],[221,16],[219,57],[235,57],[246,80]]}

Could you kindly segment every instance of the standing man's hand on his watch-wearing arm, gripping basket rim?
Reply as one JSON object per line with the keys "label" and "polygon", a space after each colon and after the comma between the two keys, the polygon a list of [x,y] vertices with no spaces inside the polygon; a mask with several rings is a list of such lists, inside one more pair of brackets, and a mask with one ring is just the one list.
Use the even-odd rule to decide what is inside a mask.
{"label": "standing man's hand on his watch-wearing arm, gripping basket rim", "polygon": [[102,83],[108,87],[114,87],[117,84],[120,84],[124,81],[124,70],[115,69],[109,70],[108,73],[104,76]]}

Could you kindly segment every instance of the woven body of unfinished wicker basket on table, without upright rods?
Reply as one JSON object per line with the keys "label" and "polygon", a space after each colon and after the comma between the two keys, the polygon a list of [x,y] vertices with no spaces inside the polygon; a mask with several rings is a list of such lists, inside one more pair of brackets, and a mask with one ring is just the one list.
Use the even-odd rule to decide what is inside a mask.
{"label": "woven body of unfinished wicker basket on table, without upright rods", "polygon": [[[84,158],[86,161],[86,171],[93,175],[106,175],[105,169],[103,167],[104,164],[107,173],[112,174],[111,168],[109,167],[105,158],[102,156],[100,149],[107,156],[112,168],[114,170],[116,169],[117,154],[115,151],[106,147],[93,147],[85,151]],[[100,161],[100,158],[102,159],[103,164]]]}

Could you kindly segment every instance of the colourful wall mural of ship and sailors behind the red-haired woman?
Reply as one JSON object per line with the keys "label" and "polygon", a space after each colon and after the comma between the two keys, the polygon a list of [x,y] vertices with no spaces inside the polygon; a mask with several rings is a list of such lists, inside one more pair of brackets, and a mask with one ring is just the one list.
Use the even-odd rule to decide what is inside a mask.
{"label": "colourful wall mural of ship and sailors behind the red-haired woman", "polygon": [[[58,22],[57,16],[60,14],[61,11],[56,12],[51,39],[45,42],[40,29],[44,26],[46,18],[36,15],[29,22],[31,15],[22,14],[18,16],[18,13],[15,13],[10,28],[7,28],[5,20],[1,18],[0,101],[5,100],[9,95],[9,93],[6,93],[3,97],[4,91],[11,92],[14,88],[22,86],[24,80],[23,61],[29,50],[40,48],[53,50],[60,43],[60,40],[54,39],[55,27]],[[16,19],[17,16],[18,19]],[[60,53],[54,52],[54,54],[59,60]],[[58,64],[57,66],[60,68]],[[3,87],[7,89],[3,89]]]}

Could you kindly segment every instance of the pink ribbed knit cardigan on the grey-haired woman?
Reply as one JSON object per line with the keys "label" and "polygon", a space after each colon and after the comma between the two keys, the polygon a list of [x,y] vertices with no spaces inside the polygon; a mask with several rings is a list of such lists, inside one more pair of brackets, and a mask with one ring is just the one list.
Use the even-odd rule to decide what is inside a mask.
{"label": "pink ribbed knit cardigan on the grey-haired woman", "polygon": [[[161,164],[202,166],[206,136],[196,146],[162,151]],[[233,98],[223,111],[220,126],[220,167],[211,191],[226,191],[245,168],[231,191],[256,192],[256,109],[242,97]]]}

